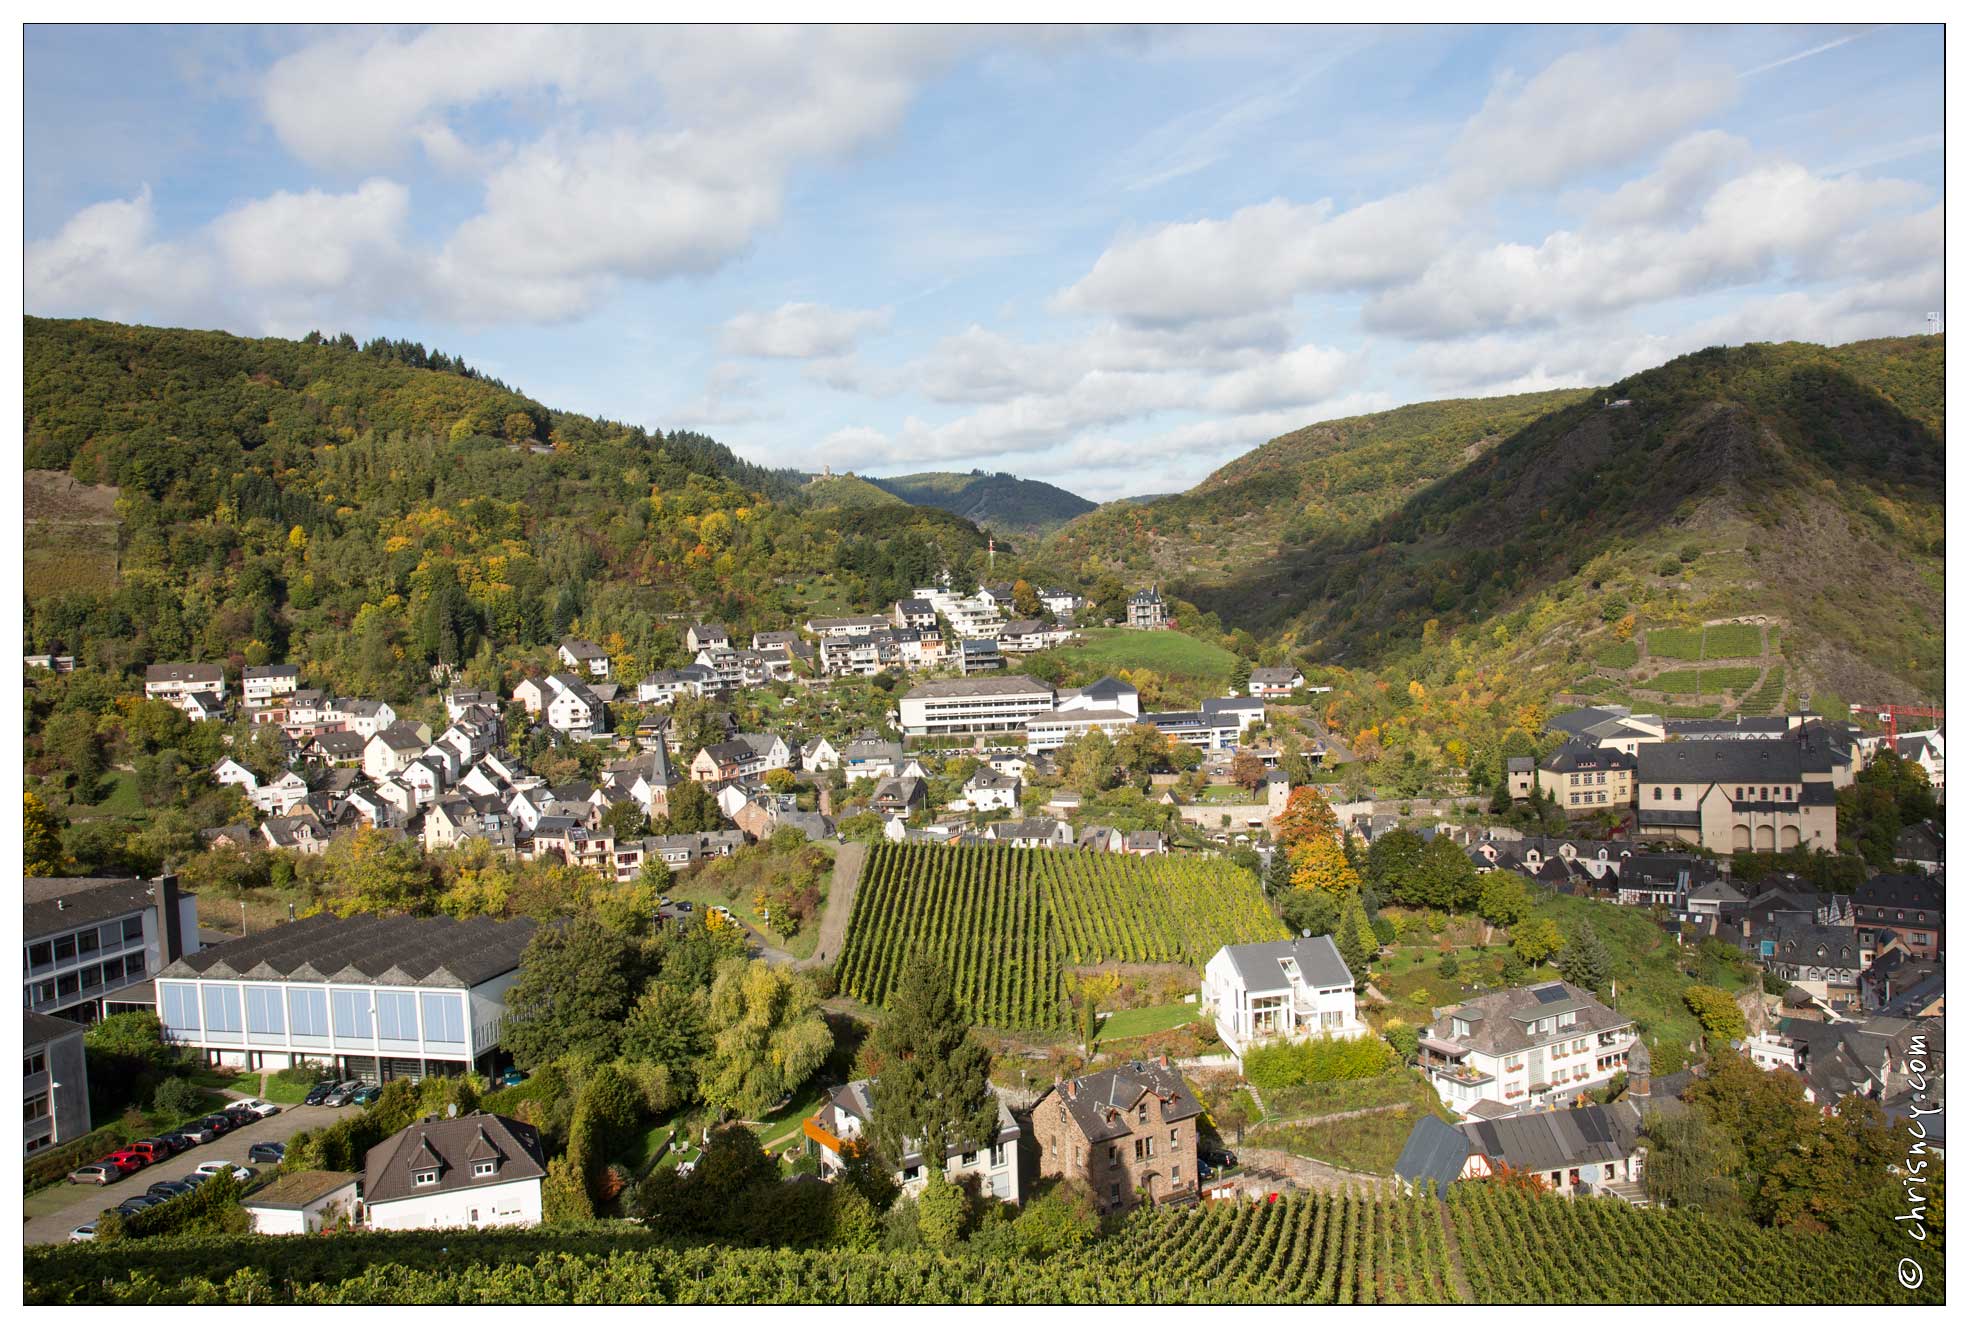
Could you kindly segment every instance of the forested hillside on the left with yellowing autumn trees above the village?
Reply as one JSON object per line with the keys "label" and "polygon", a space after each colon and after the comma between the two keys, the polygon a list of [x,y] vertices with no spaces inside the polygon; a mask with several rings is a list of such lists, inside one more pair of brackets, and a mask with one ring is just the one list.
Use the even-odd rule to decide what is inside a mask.
{"label": "forested hillside on the left with yellowing autumn trees above the village", "polygon": [[398,697],[482,646],[490,665],[573,630],[664,665],[681,614],[778,628],[815,595],[880,602],[983,567],[945,512],[809,518],[713,439],[449,364],[26,319],[30,650],[112,671],[287,660]]}

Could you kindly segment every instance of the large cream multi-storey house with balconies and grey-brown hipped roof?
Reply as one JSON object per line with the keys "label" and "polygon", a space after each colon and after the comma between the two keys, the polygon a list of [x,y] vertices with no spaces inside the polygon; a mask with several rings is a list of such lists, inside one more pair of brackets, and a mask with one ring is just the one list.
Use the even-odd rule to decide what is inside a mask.
{"label": "large cream multi-storey house with balconies and grey-brown hipped roof", "polygon": [[1439,1010],[1420,1067],[1451,1112],[1489,1118],[1571,1103],[1619,1075],[1632,1045],[1626,1016],[1569,982],[1540,982]]}

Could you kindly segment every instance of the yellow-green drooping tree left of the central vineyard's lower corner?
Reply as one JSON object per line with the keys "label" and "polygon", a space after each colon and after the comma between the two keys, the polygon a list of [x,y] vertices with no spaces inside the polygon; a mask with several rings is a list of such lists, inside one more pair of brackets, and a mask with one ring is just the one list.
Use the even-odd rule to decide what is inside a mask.
{"label": "yellow-green drooping tree left of the central vineyard's lower corner", "polygon": [[705,1103],[762,1116],[827,1061],[835,1036],[805,975],[766,961],[727,959],[711,984],[713,1049]]}

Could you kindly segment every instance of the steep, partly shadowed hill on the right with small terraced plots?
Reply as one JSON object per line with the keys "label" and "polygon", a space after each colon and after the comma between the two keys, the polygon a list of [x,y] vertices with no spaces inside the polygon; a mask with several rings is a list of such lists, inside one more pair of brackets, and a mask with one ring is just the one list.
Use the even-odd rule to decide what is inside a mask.
{"label": "steep, partly shadowed hill on the right with small terraced plots", "polygon": [[1512,669],[1577,671],[1603,636],[1754,616],[1780,701],[1939,697],[1941,366],[1939,337],[1687,354],[1179,591],[1353,665],[1467,626]]}

